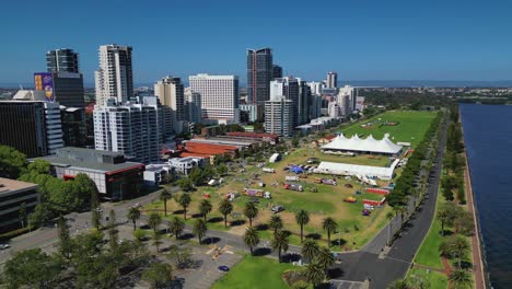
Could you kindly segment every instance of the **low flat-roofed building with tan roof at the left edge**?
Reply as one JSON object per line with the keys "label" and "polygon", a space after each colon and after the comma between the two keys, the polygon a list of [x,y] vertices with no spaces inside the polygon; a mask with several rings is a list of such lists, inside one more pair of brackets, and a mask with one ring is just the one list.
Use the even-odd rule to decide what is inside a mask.
{"label": "low flat-roofed building with tan roof at the left edge", "polygon": [[27,220],[22,219],[20,209],[24,206],[26,215],[34,211],[40,201],[37,186],[37,184],[0,177],[0,232],[26,226]]}

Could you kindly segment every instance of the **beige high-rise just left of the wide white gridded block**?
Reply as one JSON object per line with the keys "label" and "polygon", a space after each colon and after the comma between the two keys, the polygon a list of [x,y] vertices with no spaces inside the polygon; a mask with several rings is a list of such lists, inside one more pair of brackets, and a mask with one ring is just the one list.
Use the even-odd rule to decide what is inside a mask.
{"label": "beige high-rise just left of the wide white gridded block", "polygon": [[183,131],[185,118],[185,95],[181,78],[165,77],[154,84],[154,95],[162,105],[171,108],[173,129]]}

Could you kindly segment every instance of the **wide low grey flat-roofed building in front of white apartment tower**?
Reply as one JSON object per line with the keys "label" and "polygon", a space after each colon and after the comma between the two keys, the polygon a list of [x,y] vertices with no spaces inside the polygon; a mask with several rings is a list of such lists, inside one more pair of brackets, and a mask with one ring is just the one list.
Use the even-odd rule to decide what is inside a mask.
{"label": "wide low grey flat-roofed building in front of white apartment tower", "polygon": [[103,199],[136,197],[143,183],[144,164],[127,161],[118,152],[66,147],[55,155],[36,160],[49,162],[51,173],[59,178],[73,180],[78,174],[86,174]]}

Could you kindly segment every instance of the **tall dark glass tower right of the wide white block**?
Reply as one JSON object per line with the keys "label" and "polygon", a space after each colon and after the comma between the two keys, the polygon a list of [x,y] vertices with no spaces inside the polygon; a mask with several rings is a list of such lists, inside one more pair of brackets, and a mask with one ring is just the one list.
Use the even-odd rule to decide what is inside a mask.
{"label": "tall dark glass tower right of the wide white block", "polygon": [[247,49],[248,104],[264,104],[269,100],[272,79],[272,50],[270,48]]}

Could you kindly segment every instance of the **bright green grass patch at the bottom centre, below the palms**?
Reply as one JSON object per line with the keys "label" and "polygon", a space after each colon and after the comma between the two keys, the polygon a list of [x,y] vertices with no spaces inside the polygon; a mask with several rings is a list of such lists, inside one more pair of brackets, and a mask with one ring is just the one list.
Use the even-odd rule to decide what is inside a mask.
{"label": "bright green grass patch at the bottom centre, below the palms", "polygon": [[212,289],[282,289],[289,288],[281,278],[281,274],[289,269],[295,269],[291,264],[278,263],[267,257],[245,256],[238,264],[231,268],[230,273],[219,279]]}

